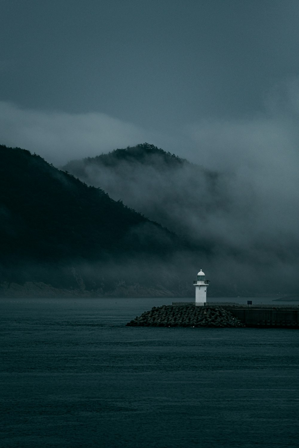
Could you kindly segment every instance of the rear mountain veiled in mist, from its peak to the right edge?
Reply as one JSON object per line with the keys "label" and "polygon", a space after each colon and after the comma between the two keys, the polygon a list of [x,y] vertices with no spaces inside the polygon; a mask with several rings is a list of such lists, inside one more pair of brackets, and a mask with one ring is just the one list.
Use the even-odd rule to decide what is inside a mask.
{"label": "rear mountain veiled in mist, from its peak to the right edge", "polygon": [[[200,152],[198,159],[200,163]],[[256,182],[262,173],[254,178],[241,168],[211,171],[148,143],[63,167],[183,235],[191,245],[204,246],[209,256],[198,254],[198,264],[208,263],[217,291],[296,292],[297,198],[287,188],[276,194],[266,177],[264,185]]]}

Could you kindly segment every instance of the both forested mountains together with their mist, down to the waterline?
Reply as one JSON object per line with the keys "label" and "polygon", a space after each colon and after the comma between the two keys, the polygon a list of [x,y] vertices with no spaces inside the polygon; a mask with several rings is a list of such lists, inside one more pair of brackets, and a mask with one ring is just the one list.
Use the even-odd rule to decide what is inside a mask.
{"label": "both forested mountains together with their mist, down to the waterline", "polygon": [[200,268],[210,297],[298,292],[298,226],[234,173],[147,143],[63,169],[0,146],[0,294],[193,297]]}

